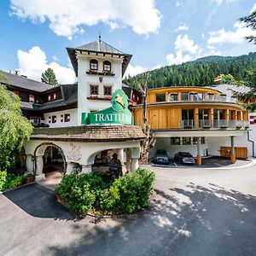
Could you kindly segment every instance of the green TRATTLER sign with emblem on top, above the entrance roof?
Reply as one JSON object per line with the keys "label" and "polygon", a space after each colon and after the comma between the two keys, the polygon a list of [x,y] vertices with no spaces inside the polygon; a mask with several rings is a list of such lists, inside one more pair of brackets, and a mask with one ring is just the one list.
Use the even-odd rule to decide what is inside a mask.
{"label": "green TRATTLER sign with emblem on top, above the entrance roof", "polygon": [[112,107],[93,113],[82,113],[83,125],[133,125],[131,111],[128,108],[128,96],[118,89],[113,92]]}

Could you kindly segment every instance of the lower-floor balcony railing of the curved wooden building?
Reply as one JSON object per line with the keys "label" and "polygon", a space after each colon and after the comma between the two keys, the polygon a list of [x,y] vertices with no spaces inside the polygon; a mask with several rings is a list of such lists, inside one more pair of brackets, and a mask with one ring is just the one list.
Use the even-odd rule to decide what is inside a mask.
{"label": "lower-floor balcony railing of the curved wooden building", "polygon": [[248,127],[248,121],[243,120],[202,120],[193,119],[182,120],[182,129],[245,129]]}

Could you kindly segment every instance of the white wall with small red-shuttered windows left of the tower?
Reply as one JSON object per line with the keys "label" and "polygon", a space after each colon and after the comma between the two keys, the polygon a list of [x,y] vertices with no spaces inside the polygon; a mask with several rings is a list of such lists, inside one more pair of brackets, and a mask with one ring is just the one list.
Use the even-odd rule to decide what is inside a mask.
{"label": "white wall with small red-shuttered windows left of the tower", "polygon": [[[65,122],[65,119],[64,119],[65,113],[70,114],[69,122]],[[61,122],[61,114],[63,114],[63,122]],[[50,123],[49,123],[49,116],[51,117],[53,115],[57,117],[56,123],[52,123],[52,119],[50,120]],[[44,122],[45,122],[45,125],[49,125],[50,128],[76,126],[78,125],[78,108],[44,113]]]}

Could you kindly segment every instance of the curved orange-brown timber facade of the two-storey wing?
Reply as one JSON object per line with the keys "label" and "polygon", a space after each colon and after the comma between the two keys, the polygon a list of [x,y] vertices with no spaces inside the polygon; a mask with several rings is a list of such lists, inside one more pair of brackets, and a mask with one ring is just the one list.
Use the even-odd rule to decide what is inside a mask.
{"label": "curved orange-brown timber facade of the two-storey wing", "polygon": [[[181,95],[186,92],[190,96],[195,94],[209,94],[220,96],[220,92],[212,89],[202,89],[194,87],[174,87],[149,90],[147,96],[147,117],[151,129],[182,129],[184,124],[187,128],[197,129],[201,124],[205,128],[213,127],[215,123],[219,126],[225,124],[234,125],[245,124],[248,119],[247,110],[241,108],[235,102],[223,101],[193,101],[192,97],[188,101],[182,101]],[[157,95],[166,96],[165,102],[156,102]],[[176,101],[168,102],[167,96],[176,95]],[[143,106],[138,105],[133,108],[135,125],[143,126]],[[192,127],[190,127],[192,126]],[[210,126],[210,127],[208,127]],[[244,128],[244,127],[241,127]]]}

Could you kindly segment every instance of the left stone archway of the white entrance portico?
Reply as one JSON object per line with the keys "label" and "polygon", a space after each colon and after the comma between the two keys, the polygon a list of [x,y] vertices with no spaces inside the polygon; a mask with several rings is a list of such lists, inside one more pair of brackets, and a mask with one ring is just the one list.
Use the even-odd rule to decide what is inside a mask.
{"label": "left stone archway of the white entrance portico", "polygon": [[57,150],[58,154],[60,154],[61,159],[63,160],[63,172],[67,170],[67,161],[65,154],[60,146],[55,143],[41,143],[39,144],[33,153],[34,158],[34,174],[36,175],[37,180],[42,180],[45,178],[44,173],[44,162],[45,162],[45,153],[48,148],[54,148]]}

